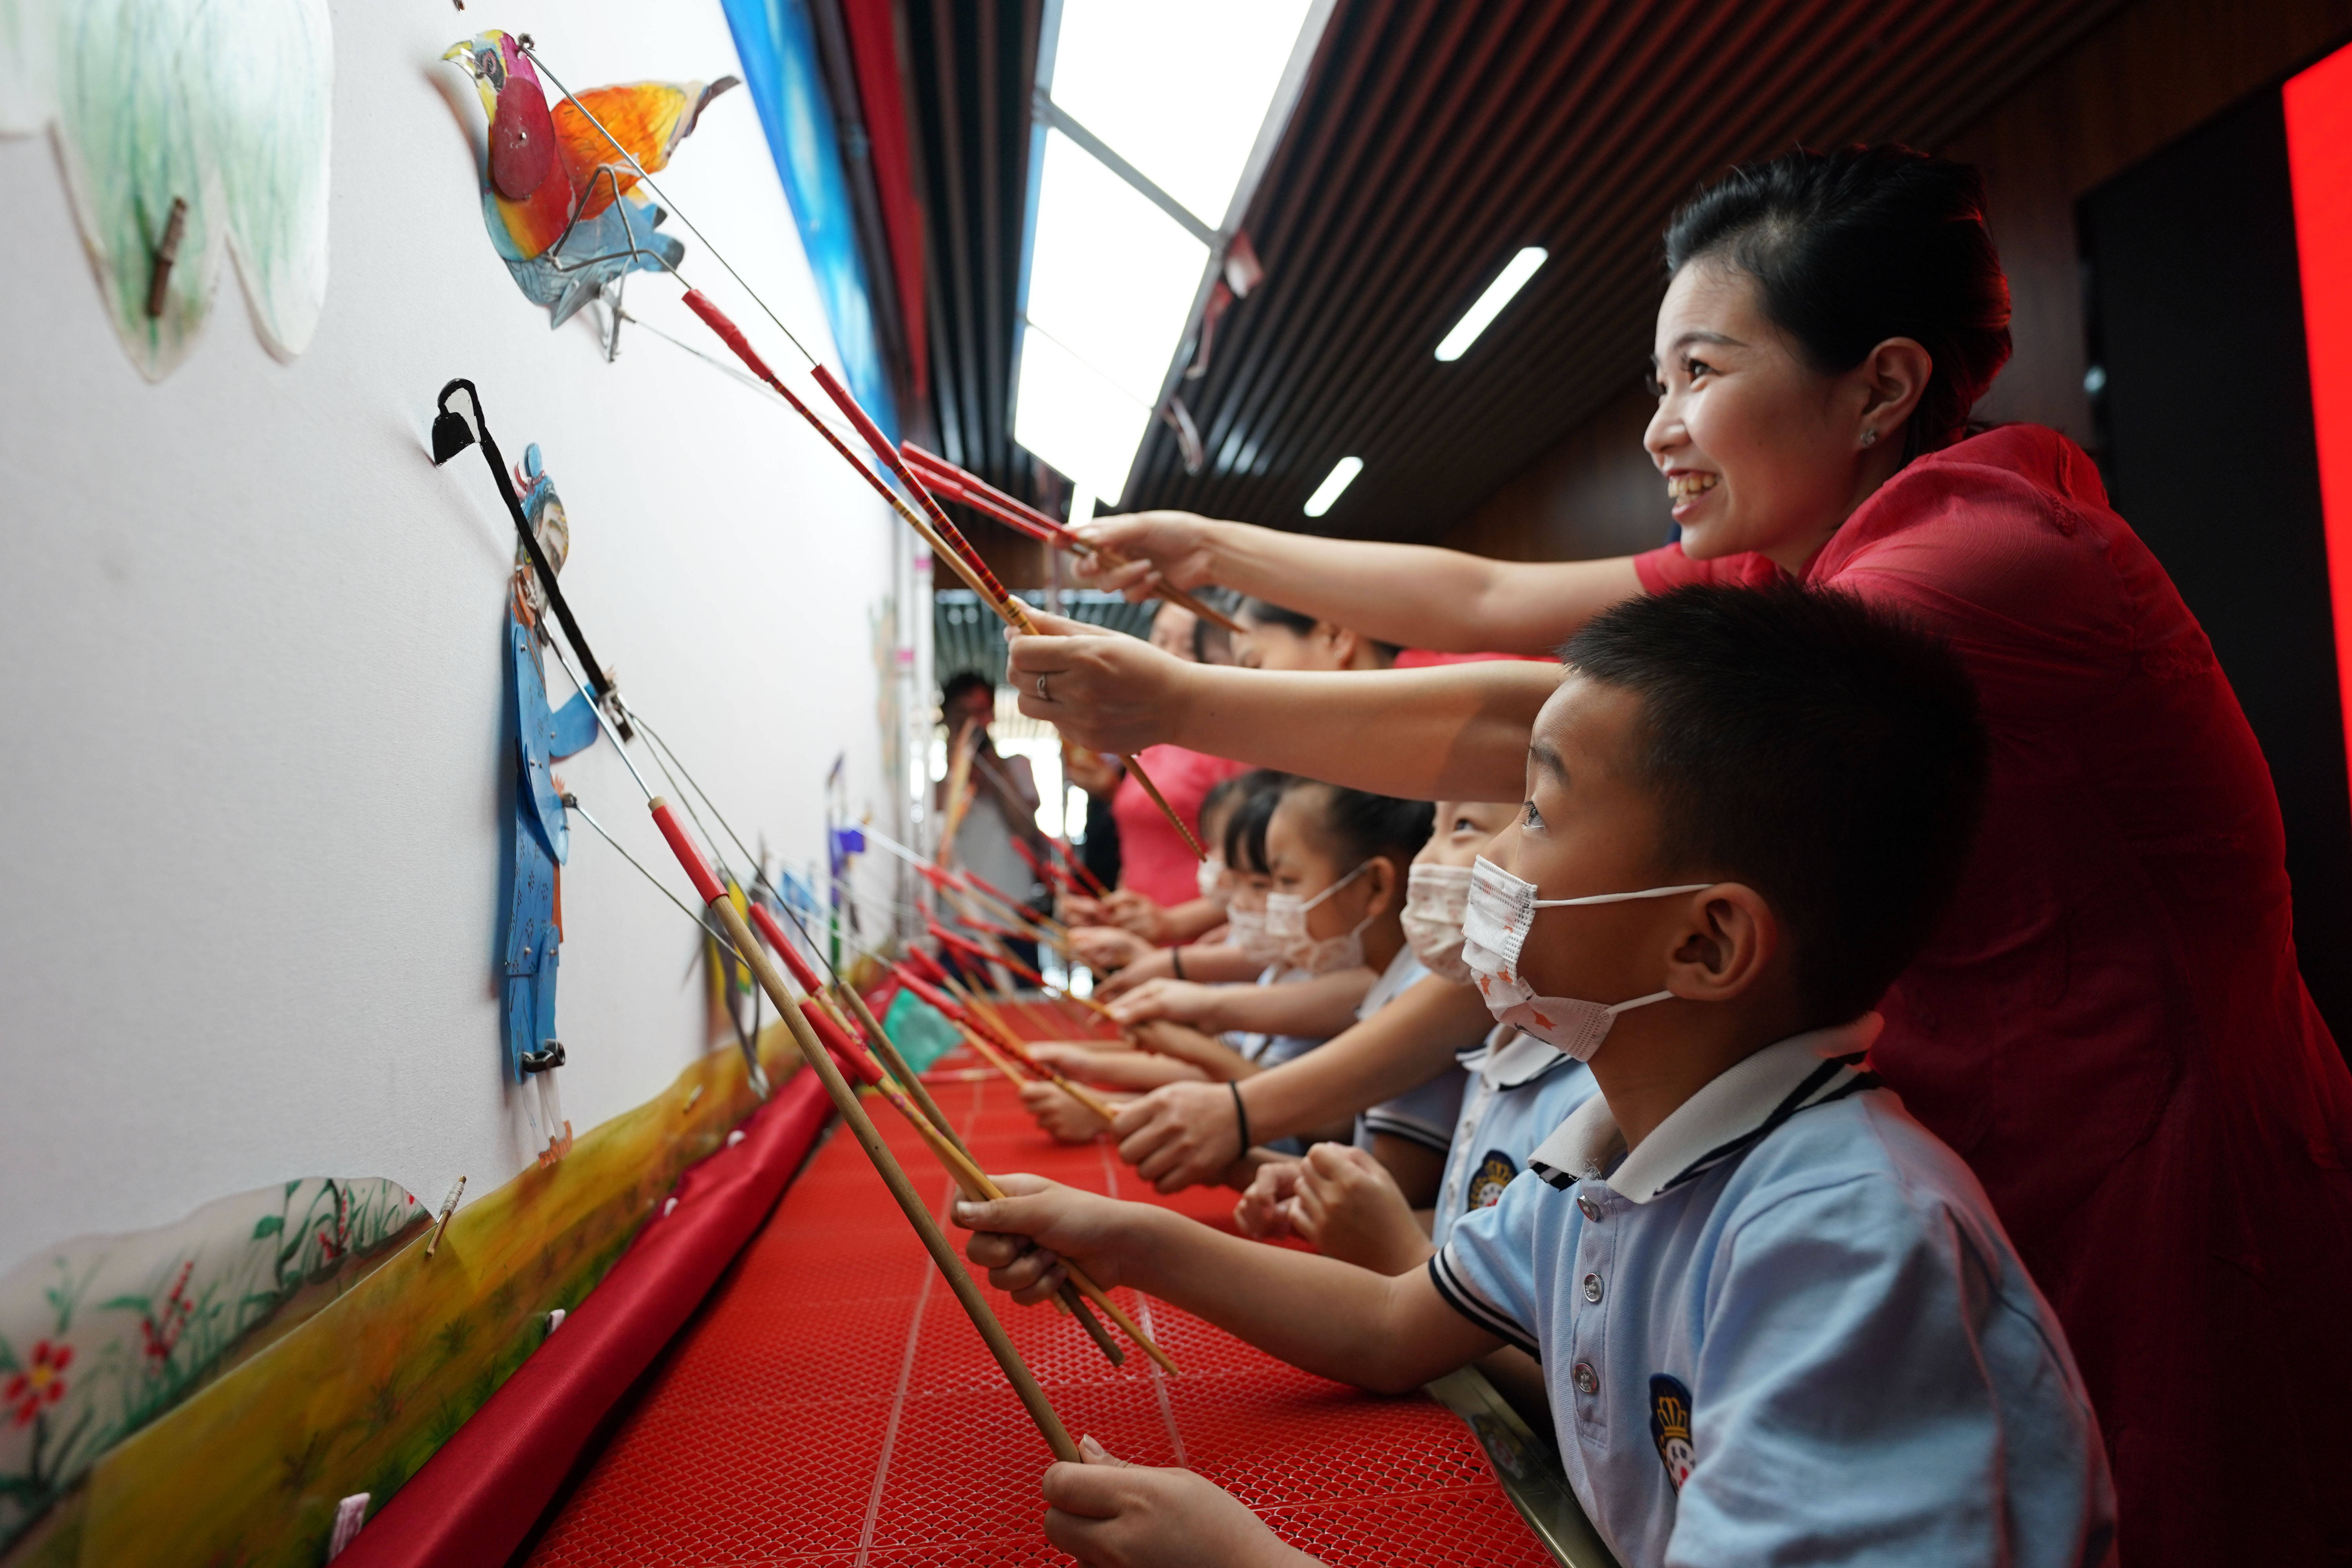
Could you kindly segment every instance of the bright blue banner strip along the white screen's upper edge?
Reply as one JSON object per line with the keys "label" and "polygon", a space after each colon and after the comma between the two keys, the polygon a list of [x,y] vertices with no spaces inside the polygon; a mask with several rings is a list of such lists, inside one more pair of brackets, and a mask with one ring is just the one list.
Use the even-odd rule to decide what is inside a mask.
{"label": "bright blue banner strip along the white screen's upper edge", "polygon": [[783,195],[800,226],[800,247],[816,273],[842,374],[866,411],[898,440],[898,402],[875,339],[873,292],[858,252],[849,179],[842,172],[842,139],[833,101],[816,59],[816,28],[804,0],[722,0],[727,26],[743,56],[743,85],[760,106],[767,148],[783,176]]}

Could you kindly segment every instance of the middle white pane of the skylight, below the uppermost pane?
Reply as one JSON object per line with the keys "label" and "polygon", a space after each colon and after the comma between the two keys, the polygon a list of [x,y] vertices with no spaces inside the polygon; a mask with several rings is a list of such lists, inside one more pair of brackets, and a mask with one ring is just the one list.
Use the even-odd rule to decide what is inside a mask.
{"label": "middle white pane of the skylight, below the uppermost pane", "polygon": [[1061,132],[1044,134],[1023,315],[1136,402],[1160,402],[1209,247]]}

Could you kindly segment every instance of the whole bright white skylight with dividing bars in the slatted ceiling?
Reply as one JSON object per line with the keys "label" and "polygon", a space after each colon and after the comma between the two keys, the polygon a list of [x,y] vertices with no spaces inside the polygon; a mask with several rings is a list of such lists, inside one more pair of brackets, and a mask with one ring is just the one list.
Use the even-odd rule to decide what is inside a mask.
{"label": "whole bright white skylight with dividing bars in the slatted ceiling", "polygon": [[1117,503],[1334,0],[1047,9],[1014,440]]}

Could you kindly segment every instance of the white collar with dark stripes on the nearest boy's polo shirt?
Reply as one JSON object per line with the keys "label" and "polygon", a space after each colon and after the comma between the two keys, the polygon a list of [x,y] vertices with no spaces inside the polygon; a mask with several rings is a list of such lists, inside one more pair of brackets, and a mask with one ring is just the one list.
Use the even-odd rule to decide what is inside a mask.
{"label": "white collar with dark stripes on the nearest boy's polo shirt", "polygon": [[1863,1013],[1835,1030],[1764,1046],[1715,1074],[1630,1154],[1609,1100],[1592,1095],[1536,1145],[1526,1168],[1559,1190],[1606,1173],[1611,1192],[1646,1204],[1748,1152],[1799,1110],[1875,1088],[1879,1079],[1860,1070],[1860,1058],[1879,1037],[1879,1025],[1877,1013]]}

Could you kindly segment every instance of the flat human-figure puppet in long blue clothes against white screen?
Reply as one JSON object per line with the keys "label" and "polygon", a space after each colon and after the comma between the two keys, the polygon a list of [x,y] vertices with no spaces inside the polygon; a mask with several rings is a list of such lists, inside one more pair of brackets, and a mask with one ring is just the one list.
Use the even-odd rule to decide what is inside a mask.
{"label": "flat human-figure puppet in long blue clothes against white screen", "polygon": [[[548,564],[562,571],[572,548],[564,503],[539,465],[539,444],[522,454],[515,475],[522,512]],[[539,663],[539,618],[546,595],[532,578],[529,562],[515,550],[515,588],[506,604],[508,679],[515,696],[515,820],[508,858],[506,896],[506,1072],[515,1084],[539,1079],[539,1110],[527,1112],[546,1133],[539,1164],[553,1164],[572,1147],[572,1124],[564,1121],[555,1093],[555,1070],[564,1065],[564,1046],[555,1037],[555,964],[564,940],[562,872],[569,853],[562,790],[553,764],[595,741],[597,722],[588,696],[579,693],[562,710],[548,708],[548,679]]]}

